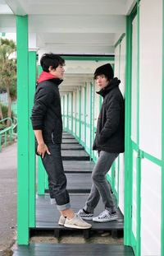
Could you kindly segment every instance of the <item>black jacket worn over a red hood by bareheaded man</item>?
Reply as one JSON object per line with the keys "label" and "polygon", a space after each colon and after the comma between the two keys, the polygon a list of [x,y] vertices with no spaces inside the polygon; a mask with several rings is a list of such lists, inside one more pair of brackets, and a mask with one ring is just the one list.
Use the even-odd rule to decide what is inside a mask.
{"label": "black jacket worn over a red hood by bareheaded man", "polygon": [[62,112],[58,86],[54,78],[37,85],[31,121],[34,130],[42,130],[45,143],[62,143]]}

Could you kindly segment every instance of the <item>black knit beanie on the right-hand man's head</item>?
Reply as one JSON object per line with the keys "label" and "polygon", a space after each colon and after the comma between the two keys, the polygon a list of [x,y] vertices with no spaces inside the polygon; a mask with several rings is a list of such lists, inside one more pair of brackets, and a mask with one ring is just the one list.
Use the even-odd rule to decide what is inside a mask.
{"label": "black knit beanie on the right-hand man's head", "polygon": [[98,67],[95,72],[94,72],[94,79],[96,79],[96,77],[104,75],[105,77],[107,77],[107,80],[111,80],[114,77],[114,73],[113,73],[113,69],[111,64],[105,64],[103,66]]}

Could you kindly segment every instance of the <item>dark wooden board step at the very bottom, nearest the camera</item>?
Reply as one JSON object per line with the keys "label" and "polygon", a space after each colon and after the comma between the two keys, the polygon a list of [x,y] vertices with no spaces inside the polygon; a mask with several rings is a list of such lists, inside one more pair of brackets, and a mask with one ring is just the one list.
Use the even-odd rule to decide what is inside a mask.
{"label": "dark wooden board step at the very bottom, nearest the camera", "polygon": [[121,244],[30,244],[18,246],[13,256],[134,256]]}

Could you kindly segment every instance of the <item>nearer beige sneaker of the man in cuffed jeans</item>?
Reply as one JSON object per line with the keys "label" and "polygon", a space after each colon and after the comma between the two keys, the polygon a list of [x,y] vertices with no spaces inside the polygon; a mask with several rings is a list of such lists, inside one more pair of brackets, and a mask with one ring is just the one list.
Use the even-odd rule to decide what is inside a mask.
{"label": "nearer beige sneaker of the man in cuffed jeans", "polygon": [[66,218],[64,226],[71,227],[73,229],[86,230],[90,229],[92,225],[83,221],[79,215],[75,214],[71,220]]}

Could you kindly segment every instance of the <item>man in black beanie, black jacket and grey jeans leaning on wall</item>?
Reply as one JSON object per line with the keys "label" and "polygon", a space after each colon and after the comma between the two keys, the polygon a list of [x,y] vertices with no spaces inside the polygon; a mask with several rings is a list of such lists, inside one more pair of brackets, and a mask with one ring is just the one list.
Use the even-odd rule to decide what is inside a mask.
{"label": "man in black beanie, black jacket and grey jeans leaning on wall", "polygon": [[[98,161],[93,168],[93,184],[87,202],[78,214],[85,220],[107,222],[117,219],[116,207],[107,183],[106,175],[119,153],[124,152],[124,99],[119,89],[120,80],[113,78],[110,64],[98,67],[94,72],[103,96],[103,105],[98,116],[97,132],[93,142],[93,150],[98,151]],[[104,211],[93,216],[100,197],[103,199]]]}

